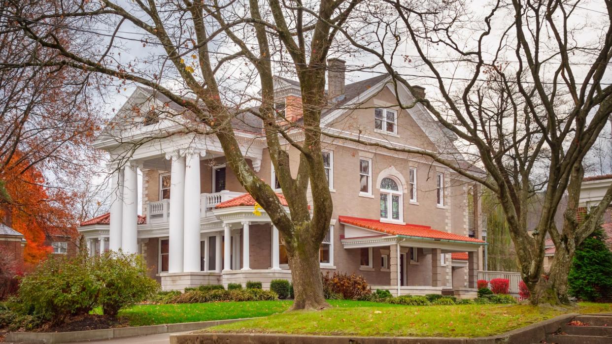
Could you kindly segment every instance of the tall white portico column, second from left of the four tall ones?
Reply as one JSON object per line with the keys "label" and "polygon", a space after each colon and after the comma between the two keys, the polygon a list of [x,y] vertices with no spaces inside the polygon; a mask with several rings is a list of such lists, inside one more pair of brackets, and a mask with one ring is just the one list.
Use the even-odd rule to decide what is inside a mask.
{"label": "tall white portico column, second from left of the four tall ones", "polygon": [[125,164],[123,172],[123,221],[121,249],[138,253],[138,174],[136,163]]}

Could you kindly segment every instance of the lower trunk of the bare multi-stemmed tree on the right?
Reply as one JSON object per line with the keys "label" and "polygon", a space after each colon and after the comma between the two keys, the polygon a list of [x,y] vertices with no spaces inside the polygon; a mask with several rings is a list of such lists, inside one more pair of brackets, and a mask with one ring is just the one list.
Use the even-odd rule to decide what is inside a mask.
{"label": "lower trunk of the bare multi-stemmed tree on the right", "polygon": [[569,299],[567,275],[572,268],[574,252],[564,244],[556,248],[550,271],[547,275],[542,274],[537,284],[530,288],[531,298],[529,302],[533,305],[550,304],[552,306],[571,306]]}

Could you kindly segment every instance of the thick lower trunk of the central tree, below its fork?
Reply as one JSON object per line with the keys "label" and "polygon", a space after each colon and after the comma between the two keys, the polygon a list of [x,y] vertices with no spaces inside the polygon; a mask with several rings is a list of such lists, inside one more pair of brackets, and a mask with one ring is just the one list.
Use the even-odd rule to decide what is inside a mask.
{"label": "thick lower trunk of the central tree, below its fork", "polygon": [[323,295],[321,267],[319,265],[319,245],[312,240],[297,241],[289,254],[289,268],[293,280],[294,301],[289,310],[321,310],[329,308]]}

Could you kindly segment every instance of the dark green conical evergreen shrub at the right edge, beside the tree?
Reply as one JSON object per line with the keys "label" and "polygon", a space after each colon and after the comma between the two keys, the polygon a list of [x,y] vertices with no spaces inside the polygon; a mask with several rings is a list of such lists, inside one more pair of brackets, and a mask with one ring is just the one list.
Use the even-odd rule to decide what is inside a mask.
{"label": "dark green conical evergreen shrub at the right edge, beside the tree", "polygon": [[600,225],[577,247],[567,280],[569,294],[577,299],[612,299],[612,252]]}

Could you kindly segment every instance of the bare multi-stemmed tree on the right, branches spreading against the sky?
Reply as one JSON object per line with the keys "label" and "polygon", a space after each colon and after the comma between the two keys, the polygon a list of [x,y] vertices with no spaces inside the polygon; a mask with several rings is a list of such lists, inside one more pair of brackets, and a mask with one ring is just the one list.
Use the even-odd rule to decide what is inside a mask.
{"label": "bare multi-stemmed tree on the right, branches spreading against the sky", "polygon": [[[580,0],[500,0],[484,7],[384,0],[359,9],[366,25],[338,27],[394,76],[396,91],[416,91],[414,81],[431,81],[434,91],[427,98],[398,96],[399,103],[427,109],[487,176],[457,164],[458,152],[401,151],[430,156],[494,192],[533,304],[570,303],[567,273],[575,248],[612,200],[610,188],[595,216],[577,221],[584,156],[612,112],[612,86],[605,83],[612,57],[612,4],[606,1],[602,11],[593,12],[584,6]],[[592,16],[588,21],[587,15]],[[414,68],[398,69],[398,60]],[[543,207],[531,235],[528,203],[538,189]],[[568,205],[559,229],[554,216],[565,195]],[[547,234],[556,254],[545,276]]]}

